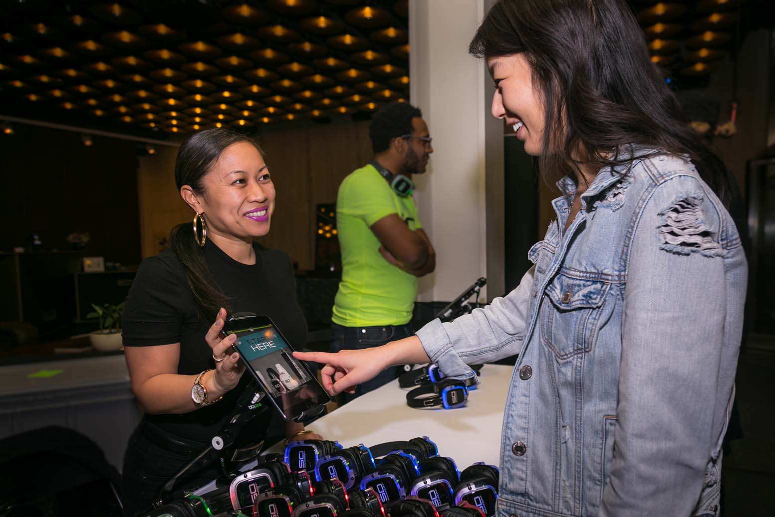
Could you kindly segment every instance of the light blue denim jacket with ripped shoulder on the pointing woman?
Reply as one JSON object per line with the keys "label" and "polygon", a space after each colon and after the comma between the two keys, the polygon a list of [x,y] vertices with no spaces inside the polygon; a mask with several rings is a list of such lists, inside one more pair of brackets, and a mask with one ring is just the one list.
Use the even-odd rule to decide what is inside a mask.
{"label": "light blue denim jacket with ripped shoulder on the pointing woman", "polygon": [[[418,331],[448,376],[518,353],[498,517],[717,515],[747,265],[681,156],[630,151],[557,220],[519,286]],[[475,401],[471,402],[475,404]]]}

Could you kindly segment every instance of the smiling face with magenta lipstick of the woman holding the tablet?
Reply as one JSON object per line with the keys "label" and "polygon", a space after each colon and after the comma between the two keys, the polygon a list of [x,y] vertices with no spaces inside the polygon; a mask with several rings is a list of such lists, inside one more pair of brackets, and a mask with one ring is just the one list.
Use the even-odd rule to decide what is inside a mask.
{"label": "smiling face with magenta lipstick of the woman holding the tablet", "polygon": [[274,212],[274,184],[263,156],[250,142],[229,145],[202,178],[198,196],[208,231],[224,237],[262,237]]}

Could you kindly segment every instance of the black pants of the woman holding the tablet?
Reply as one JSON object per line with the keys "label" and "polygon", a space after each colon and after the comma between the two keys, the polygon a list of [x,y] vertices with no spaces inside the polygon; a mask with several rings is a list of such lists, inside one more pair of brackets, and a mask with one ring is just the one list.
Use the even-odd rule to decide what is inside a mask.
{"label": "black pants of the woman holding the tablet", "polygon": [[[143,432],[145,425],[148,424],[141,422],[132,433],[124,454],[121,493],[126,517],[134,517],[138,512],[150,508],[164,484],[196,457],[195,453],[187,455],[165,448],[160,445],[159,439],[152,441]],[[205,446],[202,444],[202,449]],[[200,467],[195,473],[182,478],[175,487],[200,487],[220,475],[221,471],[213,461],[207,467]]]}

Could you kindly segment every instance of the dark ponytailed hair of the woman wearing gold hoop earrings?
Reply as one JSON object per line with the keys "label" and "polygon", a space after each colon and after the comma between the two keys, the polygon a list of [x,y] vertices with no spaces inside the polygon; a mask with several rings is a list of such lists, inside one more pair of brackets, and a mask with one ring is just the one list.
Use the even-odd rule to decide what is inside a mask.
{"label": "dark ponytailed hair of the woman wearing gold hoop earrings", "polygon": [[[175,160],[175,185],[180,190],[188,185],[200,196],[205,195],[202,179],[218,161],[226,147],[238,142],[249,142],[263,156],[258,142],[252,137],[227,129],[200,131],[188,137],[177,151]],[[207,214],[205,213],[205,218]],[[202,248],[195,241],[191,222],[178,224],[170,233],[170,247],[186,270],[186,278],[199,315],[214,318],[220,307],[229,311],[229,297],[221,290],[202,257]]]}

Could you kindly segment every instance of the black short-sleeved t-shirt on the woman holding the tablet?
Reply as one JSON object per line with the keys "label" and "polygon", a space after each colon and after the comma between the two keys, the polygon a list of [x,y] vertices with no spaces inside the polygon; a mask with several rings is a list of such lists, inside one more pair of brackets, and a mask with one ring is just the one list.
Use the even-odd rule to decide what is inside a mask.
{"label": "black short-sleeved t-shirt on the woman holding the tablet", "polygon": [[[205,264],[215,283],[229,297],[231,312],[249,311],[268,316],[288,338],[294,349],[304,347],[307,323],[296,300],[296,281],[291,259],[284,252],[254,244],[256,263],[246,265],[226,255],[207,241],[202,248]],[[143,260],[126,299],[122,323],[125,346],[181,344],[177,373],[195,375],[215,367],[212,349],[205,333],[215,322],[199,316],[186,272],[177,255],[168,249]],[[236,401],[251,380],[243,374],[239,385],[216,404],[182,415],[145,415],[147,422],[199,442],[210,442],[212,436],[236,412]],[[282,432],[282,420],[274,409],[253,418],[248,429],[256,439]]]}

